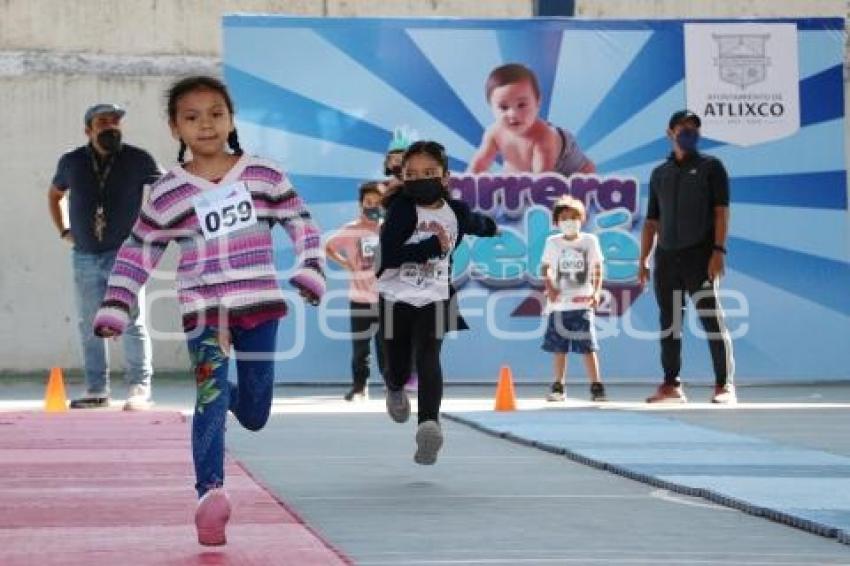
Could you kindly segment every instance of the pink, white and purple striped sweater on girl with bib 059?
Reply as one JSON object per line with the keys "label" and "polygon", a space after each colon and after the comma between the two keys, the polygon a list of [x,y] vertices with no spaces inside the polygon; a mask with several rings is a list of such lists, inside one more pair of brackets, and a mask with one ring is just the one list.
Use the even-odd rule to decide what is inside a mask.
{"label": "pink, white and purple striped sweater on girl with bib 059", "polygon": [[[236,182],[244,182],[251,193],[257,223],[205,239],[193,198]],[[95,333],[103,328],[124,331],[139,289],[171,241],[180,246],[177,283],[184,328],[199,324],[251,328],[284,316],[286,303],[272,255],[271,228],[277,222],[286,229],[297,255],[299,267],[290,283],[321,297],[325,277],[319,230],[280,166],[242,156],[218,184],[175,167],[151,187],[136,225],[118,251],[95,316]]]}

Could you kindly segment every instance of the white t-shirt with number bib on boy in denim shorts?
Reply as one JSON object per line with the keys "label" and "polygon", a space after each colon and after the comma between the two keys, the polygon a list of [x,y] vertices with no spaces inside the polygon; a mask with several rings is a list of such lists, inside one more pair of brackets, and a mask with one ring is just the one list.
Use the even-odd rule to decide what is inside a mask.
{"label": "white t-shirt with number bib on boy in denim shorts", "polygon": [[603,261],[599,239],[587,232],[579,232],[573,240],[567,240],[563,234],[549,236],[542,261],[549,266],[549,280],[561,292],[554,303],[547,301],[546,312],[589,308],[593,268]]}

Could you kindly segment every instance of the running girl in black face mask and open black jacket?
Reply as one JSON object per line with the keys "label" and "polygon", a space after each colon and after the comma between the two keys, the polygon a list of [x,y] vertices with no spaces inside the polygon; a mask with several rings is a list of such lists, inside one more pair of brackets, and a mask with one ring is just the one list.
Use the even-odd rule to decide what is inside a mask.
{"label": "running girl in black face mask and open black jacket", "polygon": [[378,291],[384,338],[387,412],[399,423],[410,417],[404,384],[411,352],[419,374],[417,464],[434,464],[443,444],[440,348],[446,332],[468,328],[451,284],[452,252],[466,234],[495,236],[496,223],[474,213],[448,190],[448,158],[432,141],[412,144],[402,158],[400,191],[384,201]]}

